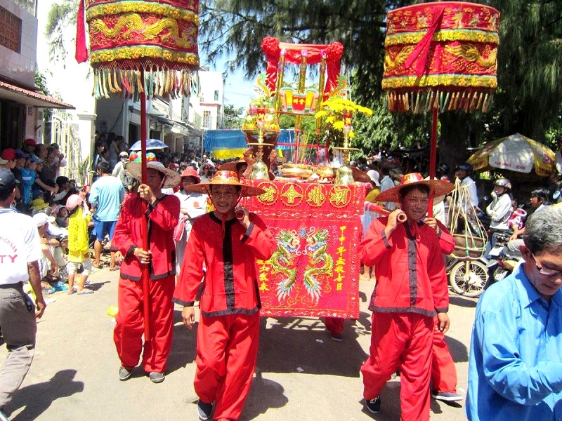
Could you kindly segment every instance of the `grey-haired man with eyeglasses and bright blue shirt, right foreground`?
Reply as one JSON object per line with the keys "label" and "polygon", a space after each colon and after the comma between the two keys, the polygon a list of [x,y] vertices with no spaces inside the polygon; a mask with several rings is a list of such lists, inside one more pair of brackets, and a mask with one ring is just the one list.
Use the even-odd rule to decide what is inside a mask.
{"label": "grey-haired man with eyeglasses and bright blue shirt, right foreground", "polygon": [[469,420],[562,414],[562,210],[525,226],[524,262],[478,302],[469,359]]}

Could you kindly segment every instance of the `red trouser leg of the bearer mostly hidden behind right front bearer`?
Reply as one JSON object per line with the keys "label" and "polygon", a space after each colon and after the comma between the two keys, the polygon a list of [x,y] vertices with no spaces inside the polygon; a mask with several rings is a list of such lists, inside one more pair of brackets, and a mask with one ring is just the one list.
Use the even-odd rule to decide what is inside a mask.
{"label": "red trouser leg of the bearer mostly hidden behind right front bearer", "polygon": [[[433,321],[438,323],[437,316]],[[445,335],[440,330],[433,330],[433,348],[431,349],[431,383],[436,392],[457,393],[457,369]]]}

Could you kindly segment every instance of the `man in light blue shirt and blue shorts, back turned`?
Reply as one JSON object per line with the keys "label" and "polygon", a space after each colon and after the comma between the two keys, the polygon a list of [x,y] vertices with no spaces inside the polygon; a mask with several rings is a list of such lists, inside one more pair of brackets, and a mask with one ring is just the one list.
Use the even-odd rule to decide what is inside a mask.
{"label": "man in light blue shirt and blue shorts, back turned", "polygon": [[[121,180],[111,176],[110,164],[98,163],[96,168],[98,180],[93,182],[88,201],[95,209],[93,211],[93,225],[96,229],[96,241],[93,243],[93,267],[100,267],[100,256],[103,250],[102,241],[107,234],[113,239],[115,225],[121,213],[121,203],[125,198],[125,189]],[[110,270],[115,270],[115,251],[112,249]]]}

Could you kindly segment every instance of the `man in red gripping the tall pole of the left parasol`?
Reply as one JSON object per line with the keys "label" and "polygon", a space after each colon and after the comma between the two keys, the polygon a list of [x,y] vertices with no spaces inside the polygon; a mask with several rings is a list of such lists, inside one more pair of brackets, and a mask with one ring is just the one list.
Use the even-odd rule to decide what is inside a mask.
{"label": "man in red gripping the tall pole of the left parasol", "polygon": [[[138,187],[138,195],[123,203],[112,241],[112,248],[124,257],[113,340],[121,360],[119,380],[127,380],[143,351],[143,300],[150,300],[150,339],[144,343],[142,364],[150,380],[161,383],[165,378],[174,326],[174,303],[171,302],[176,278],[174,228],[180,214],[179,199],[163,194],[162,188],[176,187],[180,175],[161,162],[148,162],[147,168],[146,184]],[[129,163],[127,171],[141,180],[141,163]],[[142,248],[143,201],[147,205],[148,250]],[[143,294],[143,265],[150,267],[148,297]]]}

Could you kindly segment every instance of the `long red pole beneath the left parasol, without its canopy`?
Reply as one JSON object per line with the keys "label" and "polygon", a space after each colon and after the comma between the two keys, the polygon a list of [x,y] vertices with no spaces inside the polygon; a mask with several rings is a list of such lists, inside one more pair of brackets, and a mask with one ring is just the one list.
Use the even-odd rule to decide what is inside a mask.
{"label": "long red pole beneath the left parasol, without its canopy", "polygon": [[[144,90],[145,71],[141,67],[141,86],[139,86],[141,100],[141,182],[146,184],[147,168],[146,168],[146,94]],[[143,250],[148,250],[148,208],[146,201],[143,203],[143,224],[141,234],[143,236]],[[150,267],[143,265],[142,273],[143,282],[143,315],[145,319],[145,343],[150,340]]]}

